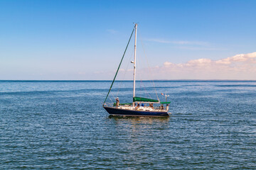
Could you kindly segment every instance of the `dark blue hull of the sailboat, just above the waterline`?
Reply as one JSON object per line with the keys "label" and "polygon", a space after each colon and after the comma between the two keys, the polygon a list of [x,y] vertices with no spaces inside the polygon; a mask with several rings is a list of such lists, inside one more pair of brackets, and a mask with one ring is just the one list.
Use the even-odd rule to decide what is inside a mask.
{"label": "dark blue hull of the sailboat, just above the waterline", "polygon": [[110,115],[132,115],[132,116],[159,116],[159,117],[166,117],[169,114],[166,111],[163,112],[156,112],[156,111],[130,111],[124,110],[121,108],[113,108],[103,106],[105,110],[110,113]]}

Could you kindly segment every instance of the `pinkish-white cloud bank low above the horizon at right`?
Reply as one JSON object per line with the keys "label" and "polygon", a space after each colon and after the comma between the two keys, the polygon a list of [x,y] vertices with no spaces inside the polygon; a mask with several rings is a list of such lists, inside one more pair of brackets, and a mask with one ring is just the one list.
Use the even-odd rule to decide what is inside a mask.
{"label": "pinkish-white cloud bank low above the horizon at right", "polygon": [[151,72],[141,70],[153,79],[256,79],[256,52],[235,55],[222,60],[202,58],[186,63],[164,62],[162,66],[151,68]]}

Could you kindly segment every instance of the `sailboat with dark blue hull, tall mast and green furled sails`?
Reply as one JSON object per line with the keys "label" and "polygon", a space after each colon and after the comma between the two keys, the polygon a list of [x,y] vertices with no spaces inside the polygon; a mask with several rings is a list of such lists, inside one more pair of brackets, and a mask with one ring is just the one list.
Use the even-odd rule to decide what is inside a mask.
{"label": "sailboat with dark blue hull, tall mast and green furled sails", "polygon": [[[103,103],[103,108],[110,113],[110,115],[128,115],[128,116],[157,116],[157,117],[167,117],[169,116],[169,104],[171,102],[165,101],[161,102],[159,99],[151,99],[151,98],[143,98],[143,97],[137,97],[135,96],[135,83],[136,83],[136,45],[137,45],[137,23],[135,23],[135,26],[132,30],[132,34],[135,30],[135,38],[134,38],[134,79],[133,79],[133,100],[132,103],[119,103],[119,99],[117,98],[117,103],[114,103],[112,106],[108,106],[106,101],[107,97],[110,94],[110,91],[112,89],[112,85],[114,84],[114,80],[117,77],[117,73],[119,71],[119,67],[122,63],[122,60],[124,59],[125,52],[127,50],[127,47],[129,45],[129,42],[132,38],[132,35],[129,38],[129,42],[127,44],[127,47],[124,51],[124,55],[122,56],[122,60],[119,64],[119,67],[117,69],[117,72],[114,76],[114,79],[112,81],[112,84],[110,86],[110,90],[108,91],[108,94],[105,98],[105,101]],[[154,106],[154,104],[158,104],[160,106]],[[164,107],[165,105],[165,107]]]}

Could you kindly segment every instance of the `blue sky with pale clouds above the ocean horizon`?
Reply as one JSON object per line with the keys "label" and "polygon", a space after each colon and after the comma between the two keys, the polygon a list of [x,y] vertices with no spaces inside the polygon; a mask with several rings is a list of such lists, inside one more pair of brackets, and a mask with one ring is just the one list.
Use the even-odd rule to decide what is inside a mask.
{"label": "blue sky with pale clouds above the ocean horizon", "polygon": [[[256,1],[0,1],[0,79],[256,79]],[[134,37],[117,79],[132,79]]]}

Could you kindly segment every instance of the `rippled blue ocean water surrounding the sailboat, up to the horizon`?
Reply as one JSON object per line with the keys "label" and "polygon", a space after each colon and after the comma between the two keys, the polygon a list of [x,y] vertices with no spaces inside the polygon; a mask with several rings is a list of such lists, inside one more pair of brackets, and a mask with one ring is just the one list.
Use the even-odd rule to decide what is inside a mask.
{"label": "rippled blue ocean water surrounding the sailboat, up to the horizon", "polygon": [[110,84],[0,81],[0,169],[256,169],[256,81],[138,81],[169,118],[109,116]]}

